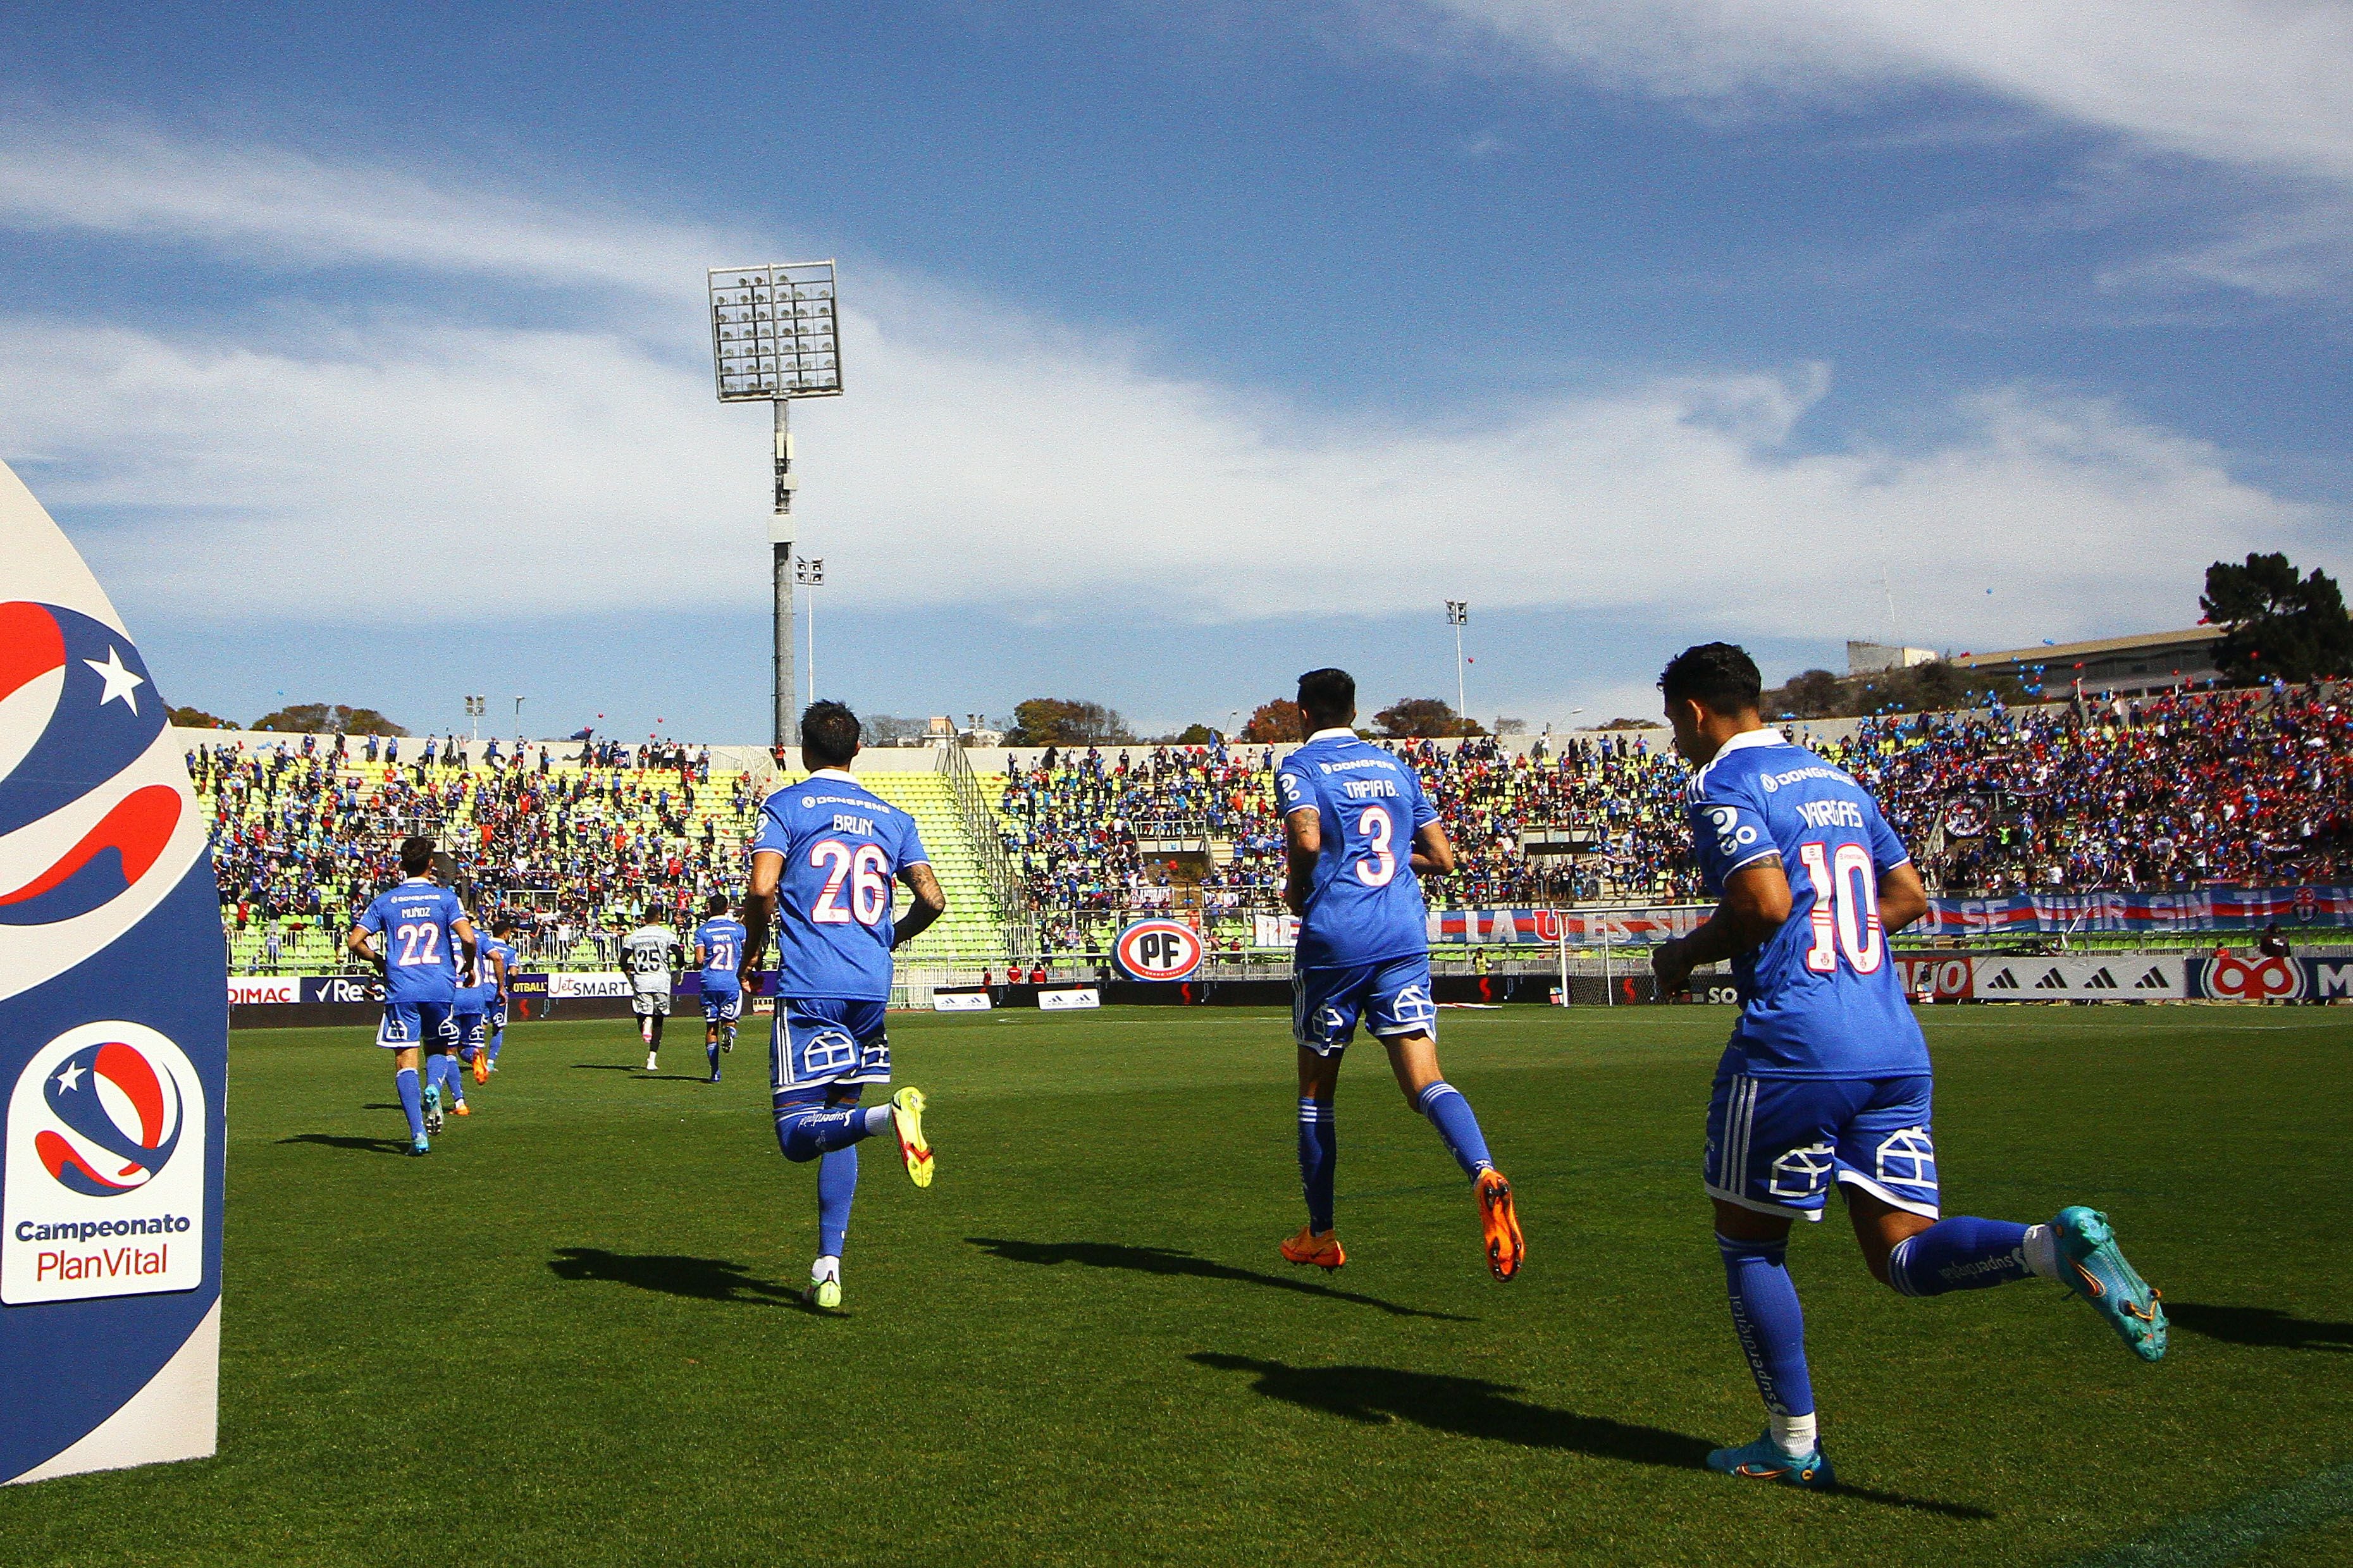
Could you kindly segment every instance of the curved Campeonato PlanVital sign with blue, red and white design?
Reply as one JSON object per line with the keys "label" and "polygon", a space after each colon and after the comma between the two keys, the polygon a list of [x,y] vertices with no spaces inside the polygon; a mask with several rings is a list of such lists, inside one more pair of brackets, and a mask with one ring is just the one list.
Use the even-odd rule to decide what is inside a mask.
{"label": "curved Campeonato PlanVital sign with blue, red and white design", "polygon": [[0,563],[0,1481],[42,1481],[214,1450],[231,991],[162,692],[7,466]]}

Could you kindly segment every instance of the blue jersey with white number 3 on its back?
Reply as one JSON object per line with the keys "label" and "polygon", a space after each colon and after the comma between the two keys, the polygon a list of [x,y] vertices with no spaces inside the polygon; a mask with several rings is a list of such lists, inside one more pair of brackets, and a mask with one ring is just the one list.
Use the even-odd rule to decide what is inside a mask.
{"label": "blue jersey with white number 3 on its back", "polygon": [[1353,735],[1315,735],[1275,770],[1282,815],[1315,810],[1322,855],[1299,918],[1301,970],[1431,951],[1431,911],[1414,876],[1414,831],[1438,812],[1407,763]]}

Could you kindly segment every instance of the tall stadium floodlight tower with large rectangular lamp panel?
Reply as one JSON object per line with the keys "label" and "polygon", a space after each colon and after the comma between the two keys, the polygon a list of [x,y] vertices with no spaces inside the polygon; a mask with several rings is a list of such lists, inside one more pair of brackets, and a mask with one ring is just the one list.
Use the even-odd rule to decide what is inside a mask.
{"label": "tall stadium floodlight tower with large rectangular lamp panel", "polygon": [[793,713],[793,398],[840,398],[842,353],[833,261],[762,261],[711,268],[711,358],[720,403],[776,407],[774,516],[767,525],[776,591],[774,744],[798,746]]}

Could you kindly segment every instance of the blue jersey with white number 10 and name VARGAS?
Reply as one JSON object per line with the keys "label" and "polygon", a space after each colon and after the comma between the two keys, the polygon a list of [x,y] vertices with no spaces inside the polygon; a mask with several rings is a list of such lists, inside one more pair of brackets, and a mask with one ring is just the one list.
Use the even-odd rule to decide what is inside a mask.
{"label": "blue jersey with white number 10 and name VARGAS", "polygon": [[1927,1071],[1887,932],[1880,876],[1911,859],[1861,784],[1779,730],[1725,742],[1692,777],[1706,888],[1781,857],[1788,921],[1732,961],[1741,1019],[1727,1064],[1753,1078],[1901,1078]]}

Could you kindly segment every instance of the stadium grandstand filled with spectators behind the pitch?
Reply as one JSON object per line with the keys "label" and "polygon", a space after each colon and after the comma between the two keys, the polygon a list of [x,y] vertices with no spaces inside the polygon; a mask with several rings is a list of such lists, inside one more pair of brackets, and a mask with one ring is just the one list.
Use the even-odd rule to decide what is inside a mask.
{"label": "stadium grandstand filled with spectators behind the pitch", "polygon": [[[2353,881],[2353,702],[2325,685],[1795,730],[1878,793],[1946,897]],[[1395,742],[1457,843],[1459,869],[1426,881],[1431,904],[1699,899],[1689,775],[1664,737]],[[685,930],[704,895],[739,890],[760,800],[802,777],[758,746],[186,739],[238,972],[341,968],[351,913],[412,831],[459,852],[480,916],[522,923],[532,965],[612,968],[647,904]],[[915,817],[948,892],[948,918],[904,961],[1092,963],[1151,913],[1195,921],[1219,954],[1264,946],[1259,918],[1280,916],[1282,751],[866,751],[861,779]]]}

